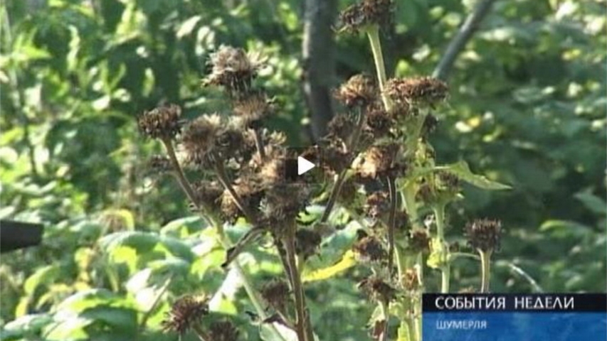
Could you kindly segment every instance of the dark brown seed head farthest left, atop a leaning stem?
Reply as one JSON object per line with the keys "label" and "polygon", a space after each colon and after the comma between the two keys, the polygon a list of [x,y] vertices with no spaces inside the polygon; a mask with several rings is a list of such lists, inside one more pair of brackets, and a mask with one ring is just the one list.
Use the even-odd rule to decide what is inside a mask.
{"label": "dark brown seed head farthest left, atop a leaning stem", "polygon": [[175,104],[157,107],[137,117],[139,131],[152,139],[174,139],[181,131],[181,108]]}

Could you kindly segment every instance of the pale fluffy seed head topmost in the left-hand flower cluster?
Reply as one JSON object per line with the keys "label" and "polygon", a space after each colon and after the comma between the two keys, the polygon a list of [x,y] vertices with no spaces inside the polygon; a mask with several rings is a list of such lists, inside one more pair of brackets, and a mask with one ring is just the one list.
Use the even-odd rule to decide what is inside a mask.
{"label": "pale fluffy seed head topmost in the left-hand flower cluster", "polygon": [[221,85],[228,94],[237,97],[248,92],[250,83],[261,65],[257,55],[250,55],[241,48],[226,45],[221,45],[216,53],[211,54],[210,63],[213,70],[203,84]]}

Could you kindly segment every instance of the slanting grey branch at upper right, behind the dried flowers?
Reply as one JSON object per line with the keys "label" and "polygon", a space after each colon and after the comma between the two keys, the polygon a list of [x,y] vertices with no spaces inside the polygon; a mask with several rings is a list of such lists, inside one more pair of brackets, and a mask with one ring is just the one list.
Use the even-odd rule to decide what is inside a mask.
{"label": "slanting grey branch at upper right, behind the dried flowers", "polygon": [[461,50],[463,50],[466,43],[468,43],[468,40],[470,40],[473,33],[478,28],[478,24],[482,21],[482,18],[485,18],[487,13],[489,13],[493,2],[495,2],[495,0],[481,0],[477,4],[474,11],[470,13],[462,27],[460,27],[460,31],[458,31],[453,40],[449,43],[443,58],[440,59],[436,69],[432,72],[432,77],[440,80],[445,80],[447,78],[455,59],[458,58]]}

